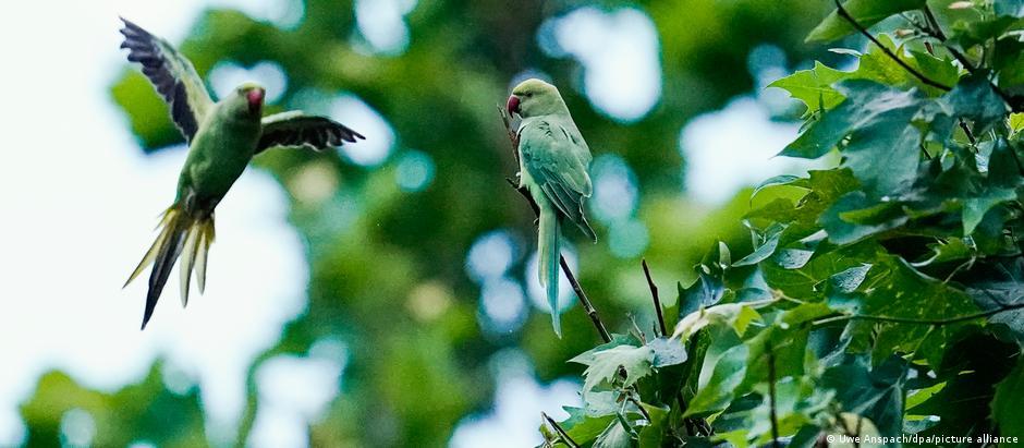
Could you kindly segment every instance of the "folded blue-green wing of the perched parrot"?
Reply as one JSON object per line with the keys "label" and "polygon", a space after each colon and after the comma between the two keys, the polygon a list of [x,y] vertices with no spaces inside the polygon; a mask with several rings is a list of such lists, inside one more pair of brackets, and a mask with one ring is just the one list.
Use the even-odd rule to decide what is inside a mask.
{"label": "folded blue-green wing of the perched parrot", "polygon": [[593,193],[587,174],[590,150],[575,128],[549,118],[524,123],[520,149],[523,165],[548,201],[587,238],[597,241],[583,211],[583,202]]}

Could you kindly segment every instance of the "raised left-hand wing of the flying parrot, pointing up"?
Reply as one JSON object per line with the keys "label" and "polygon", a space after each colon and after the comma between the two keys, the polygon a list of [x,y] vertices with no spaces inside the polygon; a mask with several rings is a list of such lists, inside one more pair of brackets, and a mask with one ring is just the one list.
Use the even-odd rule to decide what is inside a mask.
{"label": "raised left-hand wing of the flying parrot, pointing up", "polygon": [[171,118],[185,140],[191,142],[214,104],[203,80],[192,62],[167,40],[124,17],[121,21],[124,22],[121,48],[129,49],[129,61],[142,63],[143,73],[163,96],[171,108]]}

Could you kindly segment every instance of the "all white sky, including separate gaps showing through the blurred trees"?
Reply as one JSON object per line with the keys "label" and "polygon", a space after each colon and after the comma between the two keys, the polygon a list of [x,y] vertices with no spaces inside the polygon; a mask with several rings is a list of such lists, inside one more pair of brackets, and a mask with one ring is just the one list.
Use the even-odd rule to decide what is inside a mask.
{"label": "all white sky, including separate gaps showing through the blurred trees", "polygon": [[[123,291],[121,284],[151,243],[158,214],[173,199],[185,152],[144,156],[126,118],[110,99],[108,87],[126,64],[118,48],[117,17],[124,15],[180,43],[203,8],[235,7],[289,23],[295,20],[287,14],[294,2],[37,0],[0,13],[0,58],[5,62],[0,71],[0,199],[5,217],[0,232],[0,363],[9,366],[0,370],[0,446],[23,437],[16,407],[42,372],[60,368],[87,387],[112,391],[139,380],[157,356],[169,358],[186,378],[199,383],[214,441],[232,439],[244,399],[245,367],[275,343],[283,323],[305,308],[308,273],[301,242],[285,221],[281,187],[268,174],[247,170],[218,207],[206,294],[193,291],[188,308],[182,311],[173,273],[149,327],[138,330],[148,273]],[[403,40],[407,34],[401,17],[413,2],[391,2],[397,5],[364,4],[359,11],[359,25],[368,27],[365,38],[383,53],[415,45]],[[373,28],[375,23],[390,24],[381,26],[399,36],[389,40],[386,32]],[[395,28],[395,23],[402,27]],[[657,36],[642,12],[584,9],[552,26],[563,56],[584,64],[584,88],[599,110],[632,121],[657,104],[660,86],[650,82],[654,74],[660,76]],[[595,27],[619,36],[620,45],[587,46],[580,40],[585,36],[568,32]],[[620,50],[636,63],[594,62],[618,60],[608,53]],[[604,58],[592,55],[595,51],[602,51]],[[232,82],[241,75],[231,68],[223,72]],[[634,88],[614,90],[622,83]],[[268,92],[268,97],[276,95],[280,92]],[[723,202],[779,169],[764,160],[781,149],[795,129],[771,123],[760,102],[739,99],[682,132],[682,150],[690,157],[687,187],[697,199]],[[446,175],[443,167],[437,167],[436,175]],[[283,358],[260,371],[266,405],[257,416],[254,445],[304,440],[305,421],[315,420],[333,398],[345,362],[337,355],[344,352],[343,343],[326,343],[332,348],[321,350],[326,355]],[[510,446],[536,444],[539,411],[563,416],[557,412],[559,404],[578,400],[570,382],[544,386],[528,366],[511,372],[496,374],[495,409],[467,416],[453,446],[473,446],[477,437],[496,432],[503,433]],[[297,392],[309,384],[329,392]]]}

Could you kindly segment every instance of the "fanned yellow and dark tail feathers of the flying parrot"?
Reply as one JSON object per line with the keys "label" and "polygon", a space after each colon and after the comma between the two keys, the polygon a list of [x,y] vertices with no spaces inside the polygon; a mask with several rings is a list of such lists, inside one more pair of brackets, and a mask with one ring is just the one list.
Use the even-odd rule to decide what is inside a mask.
{"label": "fanned yellow and dark tail feathers of the flying parrot", "polygon": [[153,246],[143,256],[142,262],[129,277],[124,286],[129,286],[139,274],[150,264],[154,265],[149,275],[149,292],[146,294],[146,312],[143,315],[142,329],[146,329],[146,324],[153,317],[153,311],[160,300],[160,293],[163,286],[171,276],[171,268],[180,256],[182,258],[181,274],[181,304],[188,304],[188,281],[192,271],[195,270],[196,282],[199,287],[199,293],[206,288],[206,259],[214,242],[214,217],[212,215],[193,216],[186,213],[178,205],[168,208],[163,213],[163,218],[158,226],[160,233],[157,235]]}

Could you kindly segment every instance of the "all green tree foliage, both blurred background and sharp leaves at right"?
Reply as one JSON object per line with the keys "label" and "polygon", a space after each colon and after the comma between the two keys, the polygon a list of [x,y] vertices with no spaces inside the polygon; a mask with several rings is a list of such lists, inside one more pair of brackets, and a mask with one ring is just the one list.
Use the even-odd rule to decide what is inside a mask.
{"label": "all green tree foliage, both blurred background and sharp leaves at right", "polygon": [[[1024,435],[1017,3],[596,2],[639,11],[657,33],[660,94],[630,119],[596,106],[582,61],[546,47],[576,2],[419,1],[409,45],[391,52],[368,49],[349,1],[307,0],[294,26],[207,11],[181,43],[200,75],[270,61],[287,75],[282,109],[358,98],[394,135],[379,162],[257,157],[289,196],[310,279],[307,311],[253,360],[237,444],[259,367],[325,339],[343,340],[349,360],[310,422],[316,446],[446,445],[491,407],[488,361],[510,348],[544,383],[581,378],[583,408],[537,419],[556,446]],[[781,155],[825,161],[721,207],[690,201],[680,132],[763,87],[749,56],[764,44],[804,69],[772,84],[804,106],[778,117],[803,122]],[[608,340],[578,306],[561,340],[539,311],[490,330],[466,267],[500,232],[522,253],[499,276],[528,289],[534,215],[505,182],[516,167],[495,109],[524,73],[561,87],[596,159],[612,157],[638,192],[627,223],[646,232],[639,251],[608,243],[621,221],[598,221],[600,244],[568,232]],[[125,65],[110,92],[143,150],[180,143],[142,74]],[[430,175],[398,182],[410,169]],[[97,446],[209,443],[197,390],[170,390],[161,367],[115,392],[45,375],[21,409],[26,443],[57,445],[70,409],[93,416]]]}

